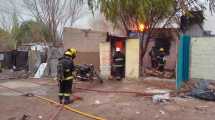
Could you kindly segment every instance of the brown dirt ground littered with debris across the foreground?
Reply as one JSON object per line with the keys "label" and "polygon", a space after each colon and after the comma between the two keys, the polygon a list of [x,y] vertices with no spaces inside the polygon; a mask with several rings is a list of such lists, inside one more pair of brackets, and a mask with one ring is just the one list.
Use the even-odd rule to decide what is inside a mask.
{"label": "brown dirt ground littered with debris across the foreground", "polygon": [[[57,85],[50,79],[0,80],[6,86],[25,93],[34,93],[57,101]],[[101,93],[77,88],[115,91],[174,91],[174,81],[123,80],[105,81],[104,84],[76,82],[73,95],[80,96],[70,106],[82,112],[96,115],[105,120],[214,120],[215,103],[193,98],[171,97],[169,102],[153,103],[150,97],[133,93]],[[51,120],[60,108],[36,97],[0,87],[0,119]],[[62,110],[55,120],[90,120],[68,110]]]}

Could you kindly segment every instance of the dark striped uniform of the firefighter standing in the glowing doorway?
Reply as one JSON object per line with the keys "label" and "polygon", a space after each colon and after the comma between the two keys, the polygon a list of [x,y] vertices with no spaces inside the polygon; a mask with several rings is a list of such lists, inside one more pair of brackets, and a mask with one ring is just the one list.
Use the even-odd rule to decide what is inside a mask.
{"label": "dark striped uniform of the firefighter standing in the glowing doorway", "polygon": [[121,80],[124,77],[125,71],[125,56],[120,51],[117,51],[113,57],[114,76],[117,80]]}

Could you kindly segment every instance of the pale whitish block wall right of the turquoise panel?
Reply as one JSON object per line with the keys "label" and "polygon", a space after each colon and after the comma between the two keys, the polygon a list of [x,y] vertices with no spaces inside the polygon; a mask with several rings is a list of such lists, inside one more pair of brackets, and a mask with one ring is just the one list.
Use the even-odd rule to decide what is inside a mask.
{"label": "pale whitish block wall right of the turquoise panel", "polygon": [[192,38],[191,78],[215,80],[215,38]]}

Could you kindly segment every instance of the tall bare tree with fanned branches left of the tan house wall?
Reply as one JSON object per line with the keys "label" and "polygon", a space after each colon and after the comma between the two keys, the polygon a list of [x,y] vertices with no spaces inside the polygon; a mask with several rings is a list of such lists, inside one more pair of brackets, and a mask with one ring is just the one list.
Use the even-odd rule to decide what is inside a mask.
{"label": "tall bare tree with fanned branches left of the tan house wall", "polygon": [[63,27],[73,25],[82,11],[84,4],[79,0],[23,0],[33,16],[48,26],[49,39],[62,39]]}

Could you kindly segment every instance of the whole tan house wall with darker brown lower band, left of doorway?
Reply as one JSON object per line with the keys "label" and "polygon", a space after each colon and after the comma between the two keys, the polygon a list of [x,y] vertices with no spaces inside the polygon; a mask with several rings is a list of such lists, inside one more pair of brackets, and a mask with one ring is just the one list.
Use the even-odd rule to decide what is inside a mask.
{"label": "whole tan house wall with darker brown lower band, left of doorway", "polygon": [[99,44],[106,41],[107,33],[92,30],[65,28],[63,34],[64,49],[78,50],[76,64],[93,64],[99,69]]}

